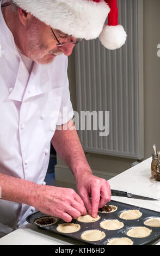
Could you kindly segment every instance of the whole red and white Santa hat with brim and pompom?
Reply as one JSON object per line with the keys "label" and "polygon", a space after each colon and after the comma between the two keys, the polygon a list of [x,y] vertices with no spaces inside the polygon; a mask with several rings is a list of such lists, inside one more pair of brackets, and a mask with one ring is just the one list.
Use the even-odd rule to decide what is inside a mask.
{"label": "whole red and white Santa hat with brim and pompom", "polygon": [[[126,32],[118,25],[116,0],[13,0],[40,21],[61,32],[86,40],[100,37],[114,50],[125,44]],[[108,25],[105,21],[108,16]]]}

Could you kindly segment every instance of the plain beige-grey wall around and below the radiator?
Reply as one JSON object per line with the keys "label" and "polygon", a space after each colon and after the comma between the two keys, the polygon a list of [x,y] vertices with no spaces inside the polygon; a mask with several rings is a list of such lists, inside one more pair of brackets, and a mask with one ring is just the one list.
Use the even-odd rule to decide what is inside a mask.
{"label": "plain beige-grey wall around and below the radiator", "polygon": [[[145,159],[152,154],[152,145],[160,150],[160,1],[144,0],[144,137]],[[69,57],[68,69],[73,109],[76,111],[75,55]],[[94,174],[106,179],[131,167],[134,160],[122,157],[87,153],[87,160]],[[65,163],[57,157],[56,179],[74,182]]]}

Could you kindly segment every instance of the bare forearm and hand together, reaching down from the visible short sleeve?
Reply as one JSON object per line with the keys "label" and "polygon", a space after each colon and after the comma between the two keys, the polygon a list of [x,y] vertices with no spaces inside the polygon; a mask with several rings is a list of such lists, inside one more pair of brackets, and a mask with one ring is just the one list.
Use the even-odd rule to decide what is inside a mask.
{"label": "bare forearm and hand together, reaching down from the visible short sleeve", "polygon": [[[69,129],[69,127],[74,129]],[[64,128],[64,125],[61,128]],[[110,201],[110,186],[106,180],[93,175],[73,120],[65,124],[64,130],[56,130],[52,144],[57,154],[72,170],[77,181],[79,196],[82,198],[88,213],[96,217],[98,209]],[[92,198],[92,202],[89,197]]]}

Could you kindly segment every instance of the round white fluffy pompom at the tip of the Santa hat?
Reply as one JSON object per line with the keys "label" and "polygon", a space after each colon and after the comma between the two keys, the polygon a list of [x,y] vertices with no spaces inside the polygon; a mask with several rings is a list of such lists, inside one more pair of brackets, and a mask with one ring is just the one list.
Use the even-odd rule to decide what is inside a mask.
{"label": "round white fluffy pompom at the tip of the Santa hat", "polygon": [[102,45],[109,50],[115,50],[125,44],[127,34],[121,25],[105,25],[101,34],[100,41]]}

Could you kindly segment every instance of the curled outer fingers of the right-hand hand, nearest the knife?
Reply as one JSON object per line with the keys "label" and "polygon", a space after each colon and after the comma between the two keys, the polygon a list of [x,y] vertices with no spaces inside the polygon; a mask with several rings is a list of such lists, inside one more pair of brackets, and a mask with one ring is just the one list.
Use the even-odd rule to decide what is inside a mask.
{"label": "curled outer fingers of the right-hand hand, nearest the knife", "polygon": [[106,181],[106,184],[101,187],[101,199],[99,203],[99,208],[102,208],[106,203],[110,202],[110,186]]}

